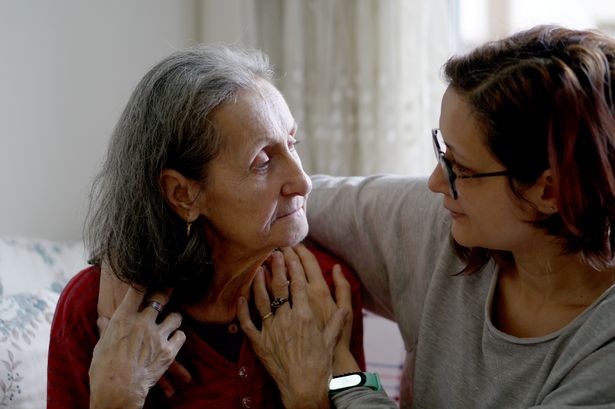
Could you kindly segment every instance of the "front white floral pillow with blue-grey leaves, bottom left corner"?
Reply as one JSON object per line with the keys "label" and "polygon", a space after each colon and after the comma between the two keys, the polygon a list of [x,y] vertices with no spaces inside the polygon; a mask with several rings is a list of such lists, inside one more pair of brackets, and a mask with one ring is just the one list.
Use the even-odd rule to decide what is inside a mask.
{"label": "front white floral pillow with blue-grey leaves, bottom left corner", "polygon": [[0,297],[0,408],[45,407],[49,332],[58,297],[47,289]]}

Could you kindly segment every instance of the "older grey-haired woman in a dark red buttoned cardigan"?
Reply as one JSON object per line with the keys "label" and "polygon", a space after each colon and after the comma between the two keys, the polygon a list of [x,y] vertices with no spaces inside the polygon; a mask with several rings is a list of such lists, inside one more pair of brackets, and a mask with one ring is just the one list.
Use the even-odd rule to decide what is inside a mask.
{"label": "older grey-haired woman in a dark red buttoned cardigan", "polygon": [[[269,325],[276,308],[290,308],[288,281],[271,273],[285,258],[289,269],[316,263],[303,247],[284,249],[285,258],[274,251],[307,234],[311,183],[295,150],[297,124],[271,78],[259,52],[198,47],[164,59],[137,85],[93,189],[94,266],[66,286],[54,317],[48,408],[295,405],[289,399],[300,395],[276,385],[236,321],[241,299],[259,326]],[[328,284],[333,278],[344,288],[335,259],[313,251]],[[110,321],[99,321],[97,345],[103,260],[133,288]],[[308,298],[327,288],[322,275],[312,278]],[[262,317],[253,282],[277,297]],[[339,310],[328,292],[312,303],[322,319],[304,323],[329,334],[325,343],[315,338],[314,355],[332,359],[340,311],[350,309],[340,294]],[[362,362],[357,295],[350,343]],[[165,396],[154,385],[175,357],[192,379],[174,382]],[[314,373],[327,376],[322,368]]]}

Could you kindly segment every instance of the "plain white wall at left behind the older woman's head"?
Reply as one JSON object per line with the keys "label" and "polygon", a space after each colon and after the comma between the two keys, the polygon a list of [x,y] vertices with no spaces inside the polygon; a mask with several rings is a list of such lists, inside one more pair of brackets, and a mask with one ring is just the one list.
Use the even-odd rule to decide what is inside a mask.
{"label": "plain white wall at left behind the older woman's head", "polygon": [[79,239],[147,69],[197,41],[197,1],[0,0],[0,235]]}

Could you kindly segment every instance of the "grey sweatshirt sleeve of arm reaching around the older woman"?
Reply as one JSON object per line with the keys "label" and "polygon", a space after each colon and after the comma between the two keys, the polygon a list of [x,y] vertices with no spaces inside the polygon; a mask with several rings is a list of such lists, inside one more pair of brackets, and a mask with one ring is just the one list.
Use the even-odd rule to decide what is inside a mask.
{"label": "grey sweatshirt sleeve of arm reaching around the older woman", "polygon": [[442,199],[424,178],[316,175],[312,182],[310,239],[350,265],[364,307],[396,321],[411,350],[434,260],[451,250]]}

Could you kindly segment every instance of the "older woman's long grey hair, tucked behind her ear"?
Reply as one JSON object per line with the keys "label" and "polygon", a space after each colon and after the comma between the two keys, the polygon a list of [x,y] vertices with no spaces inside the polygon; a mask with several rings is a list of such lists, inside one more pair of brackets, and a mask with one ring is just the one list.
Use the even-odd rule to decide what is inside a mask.
{"label": "older woman's long grey hair, tucked behind her ear", "polygon": [[186,224],[167,205],[163,169],[205,182],[223,136],[208,119],[239,90],[271,81],[267,56],[253,49],[198,46],[176,52],[139,82],[92,186],[85,241],[93,263],[150,290],[173,287],[184,301],[205,294],[213,266],[203,218]]}

